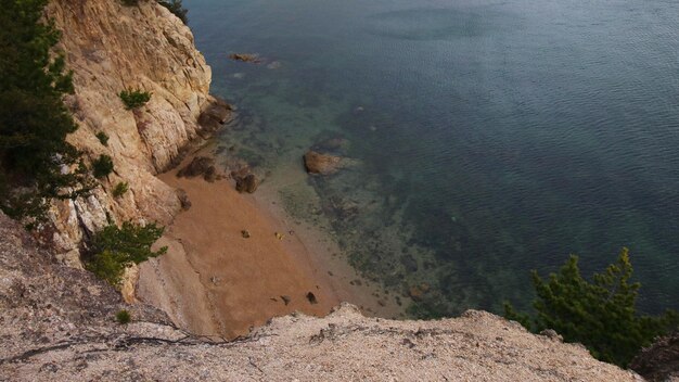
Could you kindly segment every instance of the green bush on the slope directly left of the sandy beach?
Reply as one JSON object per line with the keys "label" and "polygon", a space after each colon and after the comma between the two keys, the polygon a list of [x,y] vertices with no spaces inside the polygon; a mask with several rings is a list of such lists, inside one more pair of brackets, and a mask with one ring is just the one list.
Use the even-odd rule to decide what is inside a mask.
{"label": "green bush on the slope directly left of the sandy beach", "polygon": [[138,226],[126,221],[120,228],[108,225],[94,234],[91,243],[92,255],[86,259],[86,268],[117,286],[126,267],[167,252],[167,247],[151,250],[153,243],[163,234],[163,227],[155,224]]}

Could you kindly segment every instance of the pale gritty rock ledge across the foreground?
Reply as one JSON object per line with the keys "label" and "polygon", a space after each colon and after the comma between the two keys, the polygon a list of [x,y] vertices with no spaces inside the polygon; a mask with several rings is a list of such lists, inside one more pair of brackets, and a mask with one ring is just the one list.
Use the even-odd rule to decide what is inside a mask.
{"label": "pale gritty rock ledge across the foreground", "polygon": [[[132,313],[121,326],[114,315]],[[0,213],[0,381],[641,381],[578,345],[484,311],[440,321],[273,319],[215,342],[153,308],[126,306],[88,272],[54,262]]]}

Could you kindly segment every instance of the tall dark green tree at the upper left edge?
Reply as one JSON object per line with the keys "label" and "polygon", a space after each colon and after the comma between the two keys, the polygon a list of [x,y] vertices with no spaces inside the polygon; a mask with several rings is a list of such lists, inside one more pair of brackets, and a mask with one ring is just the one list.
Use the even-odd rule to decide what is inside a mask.
{"label": "tall dark green tree at the upper left edge", "polygon": [[47,2],[0,7],[0,209],[34,221],[44,218],[51,199],[77,198],[94,186],[65,140],[76,130],[62,102],[73,81],[64,58],[51,53],[60,34],[41,21]]}

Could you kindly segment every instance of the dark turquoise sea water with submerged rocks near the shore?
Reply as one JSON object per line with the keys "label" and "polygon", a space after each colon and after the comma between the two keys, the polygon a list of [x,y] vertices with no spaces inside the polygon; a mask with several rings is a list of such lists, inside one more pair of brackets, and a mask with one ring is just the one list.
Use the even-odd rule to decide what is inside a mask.
{"label": "dark turquoise sea water with submerged rocks near the shore", "polygon": [[576,253],[589,275],[628,246],[642,307],[679,308],[679,2],[184,4],[240,107],[229,152],[268,181],[311,147],[356,160],[279,187],[369,277],[497,311],[529,301],[530,269]]}

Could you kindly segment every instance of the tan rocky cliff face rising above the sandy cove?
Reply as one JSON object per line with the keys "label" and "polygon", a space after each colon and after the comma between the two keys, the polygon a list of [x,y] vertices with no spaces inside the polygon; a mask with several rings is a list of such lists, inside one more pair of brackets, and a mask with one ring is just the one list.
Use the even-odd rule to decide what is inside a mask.
{"label": "tan rocky cliff face rising above the sandy cove", "polygon": [[[154,175],[202,133],[202,113],[215,104],[212,74],[191,30],[155,1],[53,0],[47,15],[63,31],[59,50],[74,71],[76,92],[66,103],[79,129],[68,139],[86,157],[106,154],[115,164],[102,188],[87,200],[56,204],[53,227],[43,228],[60,259],[78,267],[81,239],[106,225],[107,213],[116,221],[167,224],[180,209],[176,191]],[[151,101],[126,110],[118,93],[129,88],[152,92]],[[110,137],[107,145],[98,132]],[[128,182],[129,191],[115,199],[118,182]]]}

